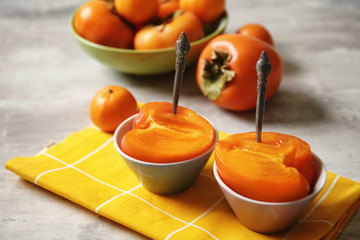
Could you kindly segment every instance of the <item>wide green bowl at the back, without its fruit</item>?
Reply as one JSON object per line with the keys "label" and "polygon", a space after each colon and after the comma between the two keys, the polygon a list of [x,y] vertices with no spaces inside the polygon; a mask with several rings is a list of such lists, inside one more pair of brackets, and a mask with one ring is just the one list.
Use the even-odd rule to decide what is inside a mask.
{"label": "wide green bowl at the back, without its fruit", "polygon": [[[175,47],[134,50],[103,46],[78,35],[73,27],[73,18],[74,14],[71,17],[70,28],[77,42],[87,54],[106,66],[116,71],[137,75],[161,74],[175,70]],[[214,24],[205,27],[209,34],[190,43],[191,49],[186,58],[187,65],[197,63],[202,49],[212,38],[224,32],[227,23],[228,15],[225,13]]]}

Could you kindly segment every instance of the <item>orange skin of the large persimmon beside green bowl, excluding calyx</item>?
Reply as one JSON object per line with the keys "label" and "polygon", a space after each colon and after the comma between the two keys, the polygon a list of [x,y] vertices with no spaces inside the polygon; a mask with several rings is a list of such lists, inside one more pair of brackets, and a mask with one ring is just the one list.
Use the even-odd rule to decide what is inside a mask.
{"label": "orange skin of the large persimmon beside green bowl, excluding calyx", "polygon": [[215,104],[232,111],[246,111],[256,107],[258,76],[255,66],[262,51],[268,54],[272,66],[267,79],[266,100],[276,93],[284,68],[281,56],[266,42],[242,34],[221,34],[205,46],[200,54],[196,72],[200,89],[205,64],[203,59],[210,61],[216,49],[231,55],[229,70],[234,71],[235,76],[232,81],[226,83],[220,96],[213,101]]}

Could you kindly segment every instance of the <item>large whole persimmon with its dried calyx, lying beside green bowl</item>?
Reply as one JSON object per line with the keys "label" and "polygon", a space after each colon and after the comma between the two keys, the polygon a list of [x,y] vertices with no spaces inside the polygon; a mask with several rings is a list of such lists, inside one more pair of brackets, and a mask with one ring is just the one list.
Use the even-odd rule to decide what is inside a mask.
{"label": "large whole persimmon with its dried calyx, lying beside green bowl", "polygon": [[283,63],[276,50],[264,41],[242,34],[222,34],[211,40],[200,54],[196,80],[202,93],[215,104],[233,111],[256,106],[256,62],[265,51],[272,65],[266,99],[279,88]]}

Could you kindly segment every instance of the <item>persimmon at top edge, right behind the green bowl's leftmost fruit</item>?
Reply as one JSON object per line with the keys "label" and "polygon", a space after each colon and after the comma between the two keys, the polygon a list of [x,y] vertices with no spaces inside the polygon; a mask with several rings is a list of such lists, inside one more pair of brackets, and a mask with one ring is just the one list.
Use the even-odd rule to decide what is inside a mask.
{"label": "persimmon at top edge, right behind the green bowl's leftmost fruit", "polygon": [[116,11],[134,25],[141,25],[156,17],[158,0],[114,0]]}

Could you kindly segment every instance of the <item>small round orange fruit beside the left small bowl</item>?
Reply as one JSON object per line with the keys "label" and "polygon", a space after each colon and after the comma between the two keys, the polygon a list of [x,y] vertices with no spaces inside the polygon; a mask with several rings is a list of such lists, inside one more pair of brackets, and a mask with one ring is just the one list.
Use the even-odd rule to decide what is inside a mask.
{"label": "small round orange fruit beside the left small bowl", "polygon": [[134,96],[121,86],[100,89],[90,102],[90,118],[104,132],[113,133],[120,123],[138,112]]}

